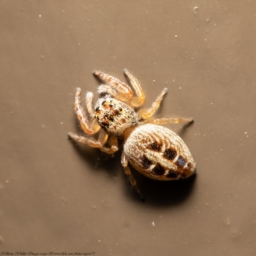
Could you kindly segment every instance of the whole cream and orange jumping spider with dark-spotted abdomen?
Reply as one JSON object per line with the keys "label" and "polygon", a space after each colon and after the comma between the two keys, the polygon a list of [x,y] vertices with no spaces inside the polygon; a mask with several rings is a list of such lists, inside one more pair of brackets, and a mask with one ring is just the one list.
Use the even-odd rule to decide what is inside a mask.
{"label": "whole cream and orange jumping spider with dark-spotted abdomen", "polygon": [[[88,120],[81,106],[81,88],[76,88],[74,108],[79,124],[89,136],[79,136],[68,132],[68,138],[99,148],[102,152],[113,154],[118,150],[118,140],[124,141],[121,164],[128,175],[132,186],[141,195],[129,163],[138,172],[155,180],[185,179],[195,172],[195,162],[184,141],[175,132],[163,127],[163,124],[193,122],[193,118],[152,118],[159,108],[167,88],[159,94],[151,108],[141,107],[145,102],[145,93],[138,80],[127,70],[131,87],[119,79],[94,70],[104,84],[100,84],[97,92],[102,95],[93,109],[93,93],[86,93],[86,108],[92,120]],[[97,140],[90,138],[98,133]]]}

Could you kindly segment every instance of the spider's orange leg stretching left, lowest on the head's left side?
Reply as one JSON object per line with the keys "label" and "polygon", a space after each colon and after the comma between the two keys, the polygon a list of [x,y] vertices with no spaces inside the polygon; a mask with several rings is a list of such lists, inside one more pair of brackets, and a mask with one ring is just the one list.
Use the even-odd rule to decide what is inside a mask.
{"label": "spider's orange leg stretching left, lowest on the head's left side", "polygon": [[86,138],[84,136],[79,136],[72,132],[68,132],[68,138],[79,143],[87,144],[88,146],[93,148],[99,148],[102,152],[105,152],[107,154],[113,154],[116,152],[116,150],[118,150],[117,139],[115,140],[110,138],[109,140],[111,142],[109,144],[111,144],[111,147],[104,147],[104,144],[108,140],[108,134],[103,130],[100,131],[98,140],[95,140],[94,138]]}

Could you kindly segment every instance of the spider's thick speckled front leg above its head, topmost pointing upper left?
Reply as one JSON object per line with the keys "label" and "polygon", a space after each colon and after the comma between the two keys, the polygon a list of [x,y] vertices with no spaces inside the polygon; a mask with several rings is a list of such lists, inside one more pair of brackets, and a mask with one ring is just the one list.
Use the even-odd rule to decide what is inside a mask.
{"label": "spider's thick speckled front leg above its head, topmost pointing upper left", "polygon": [[93,75],[99,77],[99,79],[106,83],[108,86],[112,86],[113,88],[115,88],[119,92],[118,98],[126,102],[131,101],[133,97],[133,92],[127,84],[123,83],[116,77],[110,76],[98,70],[93,70]]}

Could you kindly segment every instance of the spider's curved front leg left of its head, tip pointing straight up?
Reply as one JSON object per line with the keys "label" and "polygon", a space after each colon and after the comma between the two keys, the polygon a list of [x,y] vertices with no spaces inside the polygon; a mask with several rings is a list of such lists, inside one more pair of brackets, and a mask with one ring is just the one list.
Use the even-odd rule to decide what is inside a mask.
{"label": "spider's curved front leg left of its head, tip pointing straight up", "polygon": [[100,125],[96,122],[96,120],[93,120],[91,124],[89,124],[88,118],[85,115],[83,107],[81,106],[81,88],[79,87],[76,88],[74,106],[77,118],[84,132],[86,132],[89,135],[92,135],[99,131]]}

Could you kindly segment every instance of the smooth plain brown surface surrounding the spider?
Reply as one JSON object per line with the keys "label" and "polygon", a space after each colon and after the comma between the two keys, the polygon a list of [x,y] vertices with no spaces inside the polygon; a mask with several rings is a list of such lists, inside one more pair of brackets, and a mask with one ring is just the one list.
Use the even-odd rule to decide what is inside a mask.
{"label": "smooth plain brown surface surrounding the spider", "polygon": [[[253,1],[0,1],[0,252],[255,255]],[[76,146],[76,86],[128,68],[197,163],[156,182]]]}

